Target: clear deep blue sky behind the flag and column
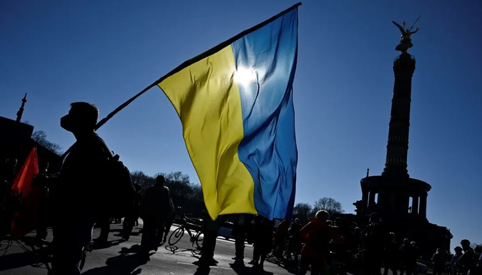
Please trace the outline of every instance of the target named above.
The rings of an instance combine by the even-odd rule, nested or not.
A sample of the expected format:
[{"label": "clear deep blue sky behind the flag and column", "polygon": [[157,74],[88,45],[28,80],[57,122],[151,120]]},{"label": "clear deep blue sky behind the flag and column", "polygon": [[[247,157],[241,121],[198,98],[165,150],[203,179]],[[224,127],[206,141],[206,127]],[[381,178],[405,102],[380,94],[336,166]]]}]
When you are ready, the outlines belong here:
[{"label": "clear deep blue sky behind the flag and column", "polygon": [[[296,1],[1,1],[0,115],[23,115],[68,148],[70,102],[104,117],[185,60]],[[428,219],[482,242],[482,54],[479,1],[321,1],[300,7],[294,84],[297,202],[361,199],[359,180],[384,168],[392,61],[399,30],[417,23],[408,170],[432,185]],[[181,170],[198,182],[180,120],[158,88],[98,133],[131,170]]]}]

